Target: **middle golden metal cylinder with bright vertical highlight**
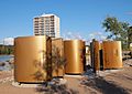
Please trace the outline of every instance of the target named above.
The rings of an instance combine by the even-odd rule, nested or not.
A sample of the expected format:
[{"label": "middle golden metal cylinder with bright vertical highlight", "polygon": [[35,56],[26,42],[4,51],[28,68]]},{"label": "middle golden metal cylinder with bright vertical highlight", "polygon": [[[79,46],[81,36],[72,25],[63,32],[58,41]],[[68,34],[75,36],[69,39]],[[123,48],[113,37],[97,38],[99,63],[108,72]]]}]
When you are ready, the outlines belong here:
[{"label": "middle golden metal cylinder with bright vertical highlight", "polygon": [[85,42],[81,40],[64,41],[64,53],[67,61],[65,73],[82,73],[85,65]]}]

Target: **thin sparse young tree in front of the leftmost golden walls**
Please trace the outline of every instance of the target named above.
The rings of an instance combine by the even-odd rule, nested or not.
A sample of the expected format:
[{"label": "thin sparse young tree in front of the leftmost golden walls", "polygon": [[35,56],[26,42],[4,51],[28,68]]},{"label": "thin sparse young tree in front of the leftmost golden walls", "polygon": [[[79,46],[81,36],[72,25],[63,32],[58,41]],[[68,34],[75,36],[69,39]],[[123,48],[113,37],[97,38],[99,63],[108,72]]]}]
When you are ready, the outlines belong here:
[{"label": "thin sparse young tree in front of the leftmost golden walls", "polygon": [[55,71],[58,76],[59,69],[64,70],[64,65],[66,64],[66,60],[61,55],[59,51],[56,46],[52,48],[52,53],[40,51],[40,53],[43,54],[43,65],[41,61],[35,61],[34,66],[37,67],[37,71],[33,74],[35,80],[50,81],[53,76],[53,71]]}]

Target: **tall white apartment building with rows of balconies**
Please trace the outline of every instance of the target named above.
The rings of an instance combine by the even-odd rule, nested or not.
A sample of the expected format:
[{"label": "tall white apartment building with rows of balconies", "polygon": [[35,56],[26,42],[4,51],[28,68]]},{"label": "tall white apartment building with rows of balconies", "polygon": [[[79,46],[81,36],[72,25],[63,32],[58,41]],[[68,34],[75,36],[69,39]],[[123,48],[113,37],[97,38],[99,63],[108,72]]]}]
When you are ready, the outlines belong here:
[{"label": "tall white apartment building with rows of balconies", "polygon": [[42,14],[33,19],[34,35],[59,38],[59,18],[55,14]]}]

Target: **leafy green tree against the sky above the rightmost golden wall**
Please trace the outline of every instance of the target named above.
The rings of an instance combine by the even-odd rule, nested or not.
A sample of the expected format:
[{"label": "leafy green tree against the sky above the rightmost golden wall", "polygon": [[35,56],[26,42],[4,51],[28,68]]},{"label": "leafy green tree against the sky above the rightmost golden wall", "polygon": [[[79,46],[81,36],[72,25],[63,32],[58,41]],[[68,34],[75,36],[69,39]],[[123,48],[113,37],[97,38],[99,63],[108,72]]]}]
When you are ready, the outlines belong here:
[{"label": "leafy green tree against the sky above the rightmost golden wall", "polygon": [[120,22],[114,17],[107,17],[102,22],[106,32],[110,32],[107,39],[122,41],[123,49],[128,49],[128,30],[129,23]]}]

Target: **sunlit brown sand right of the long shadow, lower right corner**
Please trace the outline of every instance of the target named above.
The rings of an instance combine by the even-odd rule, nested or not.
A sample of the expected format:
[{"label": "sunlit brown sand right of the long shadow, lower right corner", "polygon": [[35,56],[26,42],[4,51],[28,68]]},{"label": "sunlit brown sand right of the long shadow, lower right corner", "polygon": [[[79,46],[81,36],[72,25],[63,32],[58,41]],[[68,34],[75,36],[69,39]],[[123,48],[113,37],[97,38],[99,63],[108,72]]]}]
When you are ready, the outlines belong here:
[{"label": "sunlit brown sand right of the long shadow, lower right corner", "polygon": [[132,94],[132,67],[125,67],[118,73],[109,74],[105,77],[117,86],[124,88],[128,93]]}]

